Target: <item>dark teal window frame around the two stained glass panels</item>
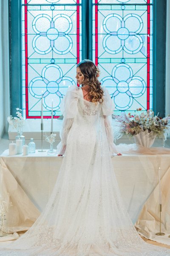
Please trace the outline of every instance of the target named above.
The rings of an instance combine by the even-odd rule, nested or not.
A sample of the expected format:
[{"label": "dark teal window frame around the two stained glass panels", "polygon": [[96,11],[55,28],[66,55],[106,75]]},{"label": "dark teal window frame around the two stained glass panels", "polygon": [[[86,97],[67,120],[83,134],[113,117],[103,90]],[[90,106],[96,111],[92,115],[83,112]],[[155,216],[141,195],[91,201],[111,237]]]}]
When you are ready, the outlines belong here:
[{"label": "dark teal window frame around the two stained glass panels", "polygon": [[[8,0],[10,112],[22,108],[21,0]],[[167,0],[153,0],[153,111],[165,115]],[[90,18],[91,17],[91,18]],[[157,18],[159,17],[159,18]],[[92,0],[82,0],[82,59],[92,60]]]}]

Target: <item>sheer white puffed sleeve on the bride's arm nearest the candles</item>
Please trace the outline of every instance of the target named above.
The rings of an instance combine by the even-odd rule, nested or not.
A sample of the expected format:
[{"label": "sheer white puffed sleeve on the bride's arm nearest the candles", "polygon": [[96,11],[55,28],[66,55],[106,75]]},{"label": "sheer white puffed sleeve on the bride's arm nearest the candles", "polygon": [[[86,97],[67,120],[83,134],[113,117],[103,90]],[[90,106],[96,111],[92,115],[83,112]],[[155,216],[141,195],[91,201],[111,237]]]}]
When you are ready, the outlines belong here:
[{"label": "sheer white puffed sleeve on the bride's arm nearest the candles", "polygon": [[77,116],[77,103],[79,99],[79,88],[71,86],[68,88],[65,97],[60,104],[60,110],[63,115],[62,128],[59,132],[61,142],[57,145],[57,154],[65,154],[68,133],[71,129],[74,117]]}]

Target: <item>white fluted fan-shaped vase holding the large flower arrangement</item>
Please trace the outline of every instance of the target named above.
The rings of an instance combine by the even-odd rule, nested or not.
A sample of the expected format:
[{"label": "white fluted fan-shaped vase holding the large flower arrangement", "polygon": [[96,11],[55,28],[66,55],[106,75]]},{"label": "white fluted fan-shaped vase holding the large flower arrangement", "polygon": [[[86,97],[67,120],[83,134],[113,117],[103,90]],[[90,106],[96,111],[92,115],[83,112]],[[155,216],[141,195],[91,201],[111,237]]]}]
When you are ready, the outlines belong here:
[{"label": "white fluted fan-shaped vase holding the large flower arrangement", "polygon": [[154,135],[152,132],[149,133],[148,130],[146,130],[141,131],[139,134],[136,134],[133,137],[136,144],[145,148],[150,148],[154,143],[156,135]]}]

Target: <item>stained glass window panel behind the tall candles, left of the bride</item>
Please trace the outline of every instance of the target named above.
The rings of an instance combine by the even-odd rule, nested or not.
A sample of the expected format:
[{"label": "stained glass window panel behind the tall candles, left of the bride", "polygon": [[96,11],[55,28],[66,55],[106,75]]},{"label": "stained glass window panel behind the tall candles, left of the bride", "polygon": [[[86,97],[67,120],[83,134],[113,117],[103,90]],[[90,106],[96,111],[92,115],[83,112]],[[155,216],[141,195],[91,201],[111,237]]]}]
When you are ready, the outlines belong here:
[{"label": "stained glass window panel behind the tall candles, left of the bride", "polygon": [[60,101],[76,84],[82,58],[81,0],[22,0],[23,114],[39,118],[61,115]]}]

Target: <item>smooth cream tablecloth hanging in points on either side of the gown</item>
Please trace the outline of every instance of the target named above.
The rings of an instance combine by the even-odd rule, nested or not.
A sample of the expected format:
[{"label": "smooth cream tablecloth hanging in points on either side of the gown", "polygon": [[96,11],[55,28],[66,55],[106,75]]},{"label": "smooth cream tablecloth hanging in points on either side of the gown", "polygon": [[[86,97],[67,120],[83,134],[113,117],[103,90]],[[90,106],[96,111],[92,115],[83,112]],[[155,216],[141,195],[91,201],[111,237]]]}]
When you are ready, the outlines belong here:
[{"label": "smooth cream tablecloth hanging in points on either side of the gown", "polygon": [[[38,151],[28,156],[8,156],[8,150],[1,157],[28,198],[42,211],[51,195],[63,157],[48,156],[47,152]],[[161,177],[170,172],[170,155],[115,156],[112,163],[127,211],[135,223],[142,207],[158,185],[159,167]],[[155,207],[158,199],[157,192]],[[159,216],[158,207],[156,215]]]}]

